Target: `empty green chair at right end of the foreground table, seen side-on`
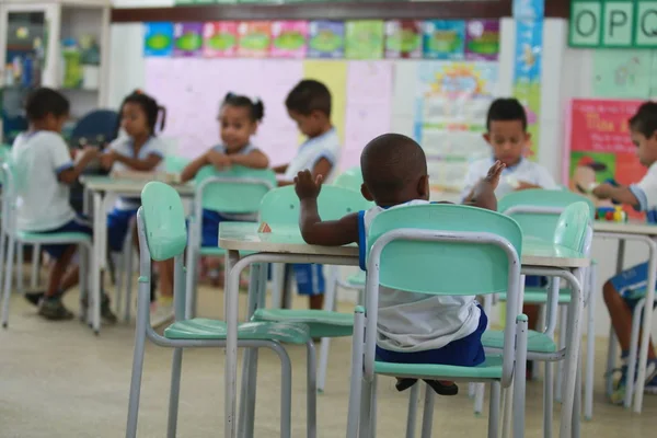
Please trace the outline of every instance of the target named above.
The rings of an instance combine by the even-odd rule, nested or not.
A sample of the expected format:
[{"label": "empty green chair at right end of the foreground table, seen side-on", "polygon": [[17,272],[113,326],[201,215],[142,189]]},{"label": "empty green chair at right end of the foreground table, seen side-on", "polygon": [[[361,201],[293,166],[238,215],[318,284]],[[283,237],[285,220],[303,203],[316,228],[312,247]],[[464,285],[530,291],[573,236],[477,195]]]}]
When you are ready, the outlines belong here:
[{"label": "empty green chair at right end of the foreground table, seen side-on", "polygon": [[[570,204],[560,215],[552,241],[556,245],[575,250],[588,256],[590,253],[592,237],[593,230],[592,222],[590,220],[590,206],[588,203],[578,201]],[[592,293],[589,291],[589,295]],[[588,302],[589,308],[591,304],[591,302]],[[563,333],[564,332],[562,332],[562,337],[565,337]],[[506,339],[504,339],[503,333],[499,331],[487,331],[482,337],[482,342],[486,347],[486,353],[491,351],[495,354],[500,351],[506,346]],[[527,350],[527,356],[529,359],[541,360],[545,362],[545,380],[543,389],[543,436],[551,437],[552,407],[554,403],[552,362],[562,361],[564,359],[565,346],[562,349],[557,349],[552,337],[552,333],[529,331]],[[595,359],[592,355],[587,357],[587,362],[592,362],[593,360]],[[592,364],[589,366],[591,367],[590,369],[592,369]],[[578,368],[578,372],[581,372],[580,367]],[[581,391],[579,388],[577,388],[576,397],[579,396],[581,396]],[[579,404],[576,403],[576,405]],[[576,415],[579,415],[579,413]]]}]

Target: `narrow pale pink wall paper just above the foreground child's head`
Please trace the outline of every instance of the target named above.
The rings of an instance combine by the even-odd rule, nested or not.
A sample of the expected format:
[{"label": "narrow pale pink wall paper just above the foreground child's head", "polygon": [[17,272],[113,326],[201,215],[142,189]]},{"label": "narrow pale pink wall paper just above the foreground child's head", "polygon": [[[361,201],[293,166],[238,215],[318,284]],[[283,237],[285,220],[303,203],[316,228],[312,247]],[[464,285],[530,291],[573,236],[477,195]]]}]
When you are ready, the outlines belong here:
[{"label": "narrow pale pink wall paper just above the foreground child's head", "polygon": [[341,170],[360,165],[362,148],[390,131],[392,67],[388,61],[349,62]]}]

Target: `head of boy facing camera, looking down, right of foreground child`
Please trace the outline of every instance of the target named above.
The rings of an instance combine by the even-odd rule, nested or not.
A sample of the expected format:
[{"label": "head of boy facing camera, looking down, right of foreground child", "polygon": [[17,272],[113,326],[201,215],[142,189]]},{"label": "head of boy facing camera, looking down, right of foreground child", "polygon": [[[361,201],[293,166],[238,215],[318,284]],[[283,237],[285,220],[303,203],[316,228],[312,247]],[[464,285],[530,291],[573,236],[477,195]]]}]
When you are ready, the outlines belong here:
[{"label": "head of boy facing camera, looking down, right of foreground child", "polygon": [[488,108],[484,138],[493,147],[496,160],[507,168],[522,159],[522,152],[530,139],[527,132],[527,114],[517,99],[497,99]]}]

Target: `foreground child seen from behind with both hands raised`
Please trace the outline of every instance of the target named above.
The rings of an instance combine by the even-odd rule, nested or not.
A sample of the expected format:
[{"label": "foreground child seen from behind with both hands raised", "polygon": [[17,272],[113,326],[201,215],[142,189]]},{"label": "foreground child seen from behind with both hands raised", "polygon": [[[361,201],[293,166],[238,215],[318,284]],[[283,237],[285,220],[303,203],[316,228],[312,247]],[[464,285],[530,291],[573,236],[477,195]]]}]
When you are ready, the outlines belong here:
[{"label": "foreground child seen from behind with both hands raised", "polygon": [[[336,221],[324,222],[318,212],[322,177],[312,176],[309,171],[298,174],[295,183],[301,200],[299,224],[306,242],[332,246],[358,242],[362,247],[367,243],[359,237],[367,239],[367,228],[381,211],[429,204],[426,157],[411,138],[399,134],[377,137],[365,147],[360,166],[362,195],[377,206]],[[503,163],[493,163],[466,203],[495,210],[494,191],[503,169]],[[481,336],[486,324],[486,314],[474,296],[438,297],[380,287],[377,356],[379,360],[391,362],[474,367],[485,359]],[[399,379],[396,388],[403,391],[415,381]],[[442,395],[458,392],[453,382],[427,383]]]}]

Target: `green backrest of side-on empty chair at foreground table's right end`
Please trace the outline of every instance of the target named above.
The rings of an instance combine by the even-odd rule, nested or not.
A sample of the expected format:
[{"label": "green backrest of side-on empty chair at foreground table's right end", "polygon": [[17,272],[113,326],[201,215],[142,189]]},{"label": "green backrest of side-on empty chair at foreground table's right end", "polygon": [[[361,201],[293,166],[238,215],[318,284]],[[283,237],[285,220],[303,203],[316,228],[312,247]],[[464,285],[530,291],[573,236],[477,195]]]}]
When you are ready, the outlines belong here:
[{"label": "green backrest of side-on empty chair at foreground table's right end", "polygon": [[575,203],[566,207],[558,217],[554,243],[588,255],[593,234],[589,211],[586,203]]}]

